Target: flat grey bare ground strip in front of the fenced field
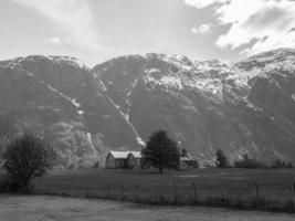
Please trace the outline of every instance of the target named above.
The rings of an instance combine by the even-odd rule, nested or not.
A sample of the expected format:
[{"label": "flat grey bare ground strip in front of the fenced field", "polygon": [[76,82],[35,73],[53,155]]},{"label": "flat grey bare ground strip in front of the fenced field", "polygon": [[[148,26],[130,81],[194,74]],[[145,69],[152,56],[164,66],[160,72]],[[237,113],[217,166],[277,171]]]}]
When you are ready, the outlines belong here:
[{"label": "flat grey bare ground strip in front of the fenced field", "polygon": [[294,221],[294,214],[0,194],[0,221]]}]

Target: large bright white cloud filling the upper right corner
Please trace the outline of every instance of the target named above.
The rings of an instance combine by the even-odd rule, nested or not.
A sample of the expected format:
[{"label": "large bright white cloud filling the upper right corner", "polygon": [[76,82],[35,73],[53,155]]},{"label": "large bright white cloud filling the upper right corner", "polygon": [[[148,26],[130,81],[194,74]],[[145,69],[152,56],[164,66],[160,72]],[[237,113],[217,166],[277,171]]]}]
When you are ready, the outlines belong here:
[{"label": "large bright white cloud filling the upper right corner", "polygon": [[201,9],[215,4],[214,18],[219,25],[230,25],[215,44],[221,49],[249,46],[243,53],[259,53],[277,48],[294,48],[294,0],[185,0]]}]

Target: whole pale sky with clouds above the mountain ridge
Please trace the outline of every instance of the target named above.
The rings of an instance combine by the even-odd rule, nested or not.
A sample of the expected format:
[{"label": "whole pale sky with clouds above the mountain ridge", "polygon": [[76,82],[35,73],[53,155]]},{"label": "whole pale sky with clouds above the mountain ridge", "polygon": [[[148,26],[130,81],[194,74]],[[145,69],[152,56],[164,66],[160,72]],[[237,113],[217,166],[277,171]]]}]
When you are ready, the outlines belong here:
[{"label": "whole pale sky with clouds above the mountain ridge", "polygon": [[236,61],[295,48],[295,0],[0,0],[0,60],[88,66],[150,52]]}]

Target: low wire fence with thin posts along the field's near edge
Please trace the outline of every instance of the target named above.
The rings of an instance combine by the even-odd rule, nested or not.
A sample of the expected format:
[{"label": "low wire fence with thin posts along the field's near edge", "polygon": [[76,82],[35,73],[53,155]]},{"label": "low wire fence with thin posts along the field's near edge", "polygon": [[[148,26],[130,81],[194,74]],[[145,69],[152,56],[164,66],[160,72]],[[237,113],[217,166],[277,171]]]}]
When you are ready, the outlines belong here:
[{"label": "low wire fence with thin posts along the field's near edge", "polygon": [[108,182],[39,182],[35,193],[114,199],[152,204],[198,204],[295,212],[292,185],[122,185]]}]

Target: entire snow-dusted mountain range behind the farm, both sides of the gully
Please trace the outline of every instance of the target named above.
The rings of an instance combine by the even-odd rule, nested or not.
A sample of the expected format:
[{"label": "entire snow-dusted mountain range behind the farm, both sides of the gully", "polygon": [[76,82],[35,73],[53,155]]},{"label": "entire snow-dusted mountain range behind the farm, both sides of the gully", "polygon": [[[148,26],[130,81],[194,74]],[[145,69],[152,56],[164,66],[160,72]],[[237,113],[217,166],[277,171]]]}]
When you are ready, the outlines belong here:
[{"label": "entire snow-dusted mountain range behind the farm, both sides of the gully", "polygon": [[236,63],[186,56],[120,56],[94,69],[74,57],[0,62],[0,106],[22,130],[31,124],[53,143],[59,165],[103,162],[109,149],[140,149],[168,130],[203,164],[217,148],[295,160],[295,50]]}]

